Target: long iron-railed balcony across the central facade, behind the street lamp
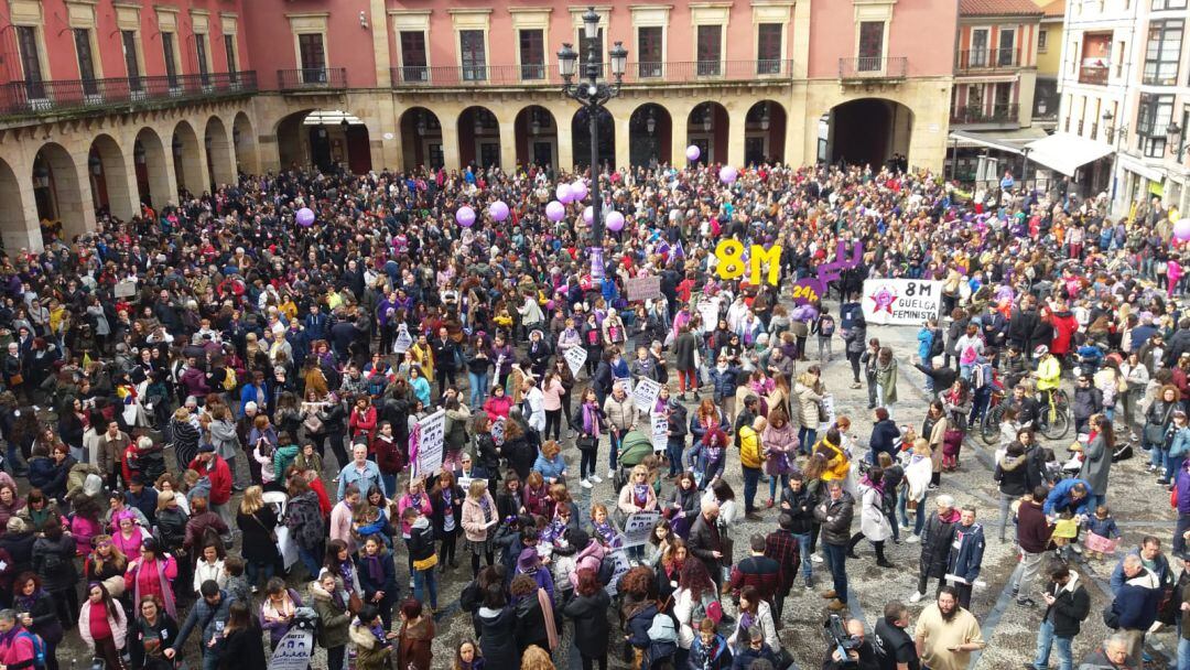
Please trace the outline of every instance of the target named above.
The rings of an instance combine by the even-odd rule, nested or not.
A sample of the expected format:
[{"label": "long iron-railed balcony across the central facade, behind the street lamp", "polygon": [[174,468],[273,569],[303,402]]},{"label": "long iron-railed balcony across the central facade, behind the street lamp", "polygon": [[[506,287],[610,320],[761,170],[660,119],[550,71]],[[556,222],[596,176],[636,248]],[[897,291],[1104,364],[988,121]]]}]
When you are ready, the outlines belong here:
[{"label": "long iron-railed balcony across the central facade, behind the street lamp", "polygon": [[[583,65],[578,65],[583,71]],[[610,73],[610,63],[602,63],[603,76]],[[754,82],[757,80],[789,80],[793,77],[793,61],[688,61],[628,63],[624,83],[709,83]],[[392,69],[393,88],[434,87],[501,87],[501,86],[562,86],[557,64],[520,65],[407,65]]]}]

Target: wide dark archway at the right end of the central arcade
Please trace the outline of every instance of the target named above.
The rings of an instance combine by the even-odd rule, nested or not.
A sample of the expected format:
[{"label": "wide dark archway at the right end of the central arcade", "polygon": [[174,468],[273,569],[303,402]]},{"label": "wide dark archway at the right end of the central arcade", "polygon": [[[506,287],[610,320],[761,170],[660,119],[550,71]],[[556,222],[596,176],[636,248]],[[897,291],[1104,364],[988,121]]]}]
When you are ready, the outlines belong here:
[{"label": "wide dark archway at the right end of the central arcade", "polygon": [[820,159],[828,163],[871,165],[881,169],[894,156],[909,155],[913,111],[879,98],[862,98],[831,108],[826,120],[826,146]]}]

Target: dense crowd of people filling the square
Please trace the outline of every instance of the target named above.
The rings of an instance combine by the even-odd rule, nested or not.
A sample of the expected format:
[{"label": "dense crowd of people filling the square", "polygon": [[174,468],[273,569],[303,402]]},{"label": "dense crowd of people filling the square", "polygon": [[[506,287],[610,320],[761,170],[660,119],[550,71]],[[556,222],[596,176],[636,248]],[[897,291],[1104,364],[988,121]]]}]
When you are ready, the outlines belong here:
[{"label": "dense crowd of people filling the square", "polygon": [[[0,668],[57,670],[77,628],[111,670],[238,669],[265,663],[265,631],[275,649],[312,625],[331,670],[543,670],[571,653],[568,635],[584,670],[609,655],[784,670],[795,640],[781,631],[808,618],[837,633],[823,666],[966,668],[984,646],[971,600],[994,533],[944,475],[970,469],[964,442],[992,411],[995,534],[1020,552],[1019,605],[1038,607],[1046,570],[1034,668],[1051,649],[1071,668],[1090,607],[1077,561],[1115,559],[1108,483],[1132,445],[1154,491],[1173,491],[1172,551],[1188,557],[1176,212],[1154,200],[1110,220],[1102,196],[1010,179],[966,195],[923,171],[764,164],[725,182],[657,165],[603,174],[594,206],[626,224],[594,240],[584,202],[545,214],[556,184],[583,179],[242,176],[10,250]],[[474,226],[455,223],[464,205]],[[303,207],[313,225],[296,223]],[[781,245],[781,281],[720,278],[725,239]],[[795,303],[794,281],[840,244],[859,262]],[[630,300],[643,276],[659,295]],[[915,351],[868,332],[857,299],[876,277],[940,282]],[[909,363],[923,417],[901,407]],[[850,365],[850,389],[826,388],[828,365]],[[630,393],[643,380],[660,384],[651,407]],[[829,401],[865,386],[866,444]],[[1081,436],[1069,462],[1039,439],[1064,387]],[[438,411],[441,467],[415,471]],[[609,502],[588,506],[601,474]],[[626,522],[653,512],[647,541],[625,546]],[[744,537],[745,520],[768,532]],[[883,570],[913,569],[889,543],[920,543],[904,600],[932,602],[915,622],[903,602],[871,635],[850,618],[862,540]],[[474,638],[436,659],[447,580],[465,584]],[[815,584],[821,615],[785,610]],[[1188,586],[1155,537],[1123,556],[1103,668],[1139,668],[1153,621],[1190,610]]]}]

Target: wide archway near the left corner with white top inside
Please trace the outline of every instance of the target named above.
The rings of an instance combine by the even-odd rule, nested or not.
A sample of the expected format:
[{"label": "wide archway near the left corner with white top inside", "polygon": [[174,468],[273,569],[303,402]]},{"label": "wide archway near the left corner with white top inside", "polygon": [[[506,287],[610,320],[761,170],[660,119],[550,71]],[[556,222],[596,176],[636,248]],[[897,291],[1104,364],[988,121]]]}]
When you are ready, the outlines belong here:
[{"label": "wide archway near the left corner with white top inside", "polygon": [[314,165],[324,173],[342,168],[357,175],[371,170],[368,126],[339,109],[303,109],[281,119],[277,151],[283,168]]}]

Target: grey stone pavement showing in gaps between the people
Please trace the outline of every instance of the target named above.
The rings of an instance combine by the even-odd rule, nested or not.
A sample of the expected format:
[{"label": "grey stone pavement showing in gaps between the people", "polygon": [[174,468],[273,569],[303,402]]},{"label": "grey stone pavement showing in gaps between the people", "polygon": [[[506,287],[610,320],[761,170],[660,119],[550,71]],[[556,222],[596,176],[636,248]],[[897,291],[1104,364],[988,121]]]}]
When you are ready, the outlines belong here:
[{"label": "grey stone pavement showing in gaps between the people", "polygon": [[[910,424],[920,430],[921,420],[925,417],[928,405],[923,390],[923,376],[912,367],[913,353],[916,351],[915,327],[881,327],[873,326],[869,330],[870,337],[877,337],[885,345],[892,346],[897,352],[901,363],[901,375],[898,383],[900,400],[894,408],[894,419],[898,424]],[[866,408],[866,388],[850,389],[851,371],[847,362],[841,358],[841,346],[835,343],[835,357],[823,369],[823,381],[827,390],[833,394],[837,415],[847,415],[852,420],[852,443],[858,445],[859,451],[865,451],[868,438],[872,425],[872,413]],[[810,346],[812,350],[816,347]],[[800,363],[798,369],[803,369],[809,363]],[[709,392],[708,392],[709,393]],[[691,403],[691,407],[694,403]],[[1072,434],[1067,438],[1072,439]],[[1066,443],[1069,444],[1069,443]],[[1066,444],[1054,444],[1059,457],[1065,455]],[[600,447],[601,472],[603,463],[607,461],[607,445]],[[726,468],[726,480],[737,491],[738,497],[743,497],[743,477],[739,467],[739,455],[728,450],[728,464]],[[564,450],[564,455],[570,464],[571,471],[577,471],[578,453],[570,446]],[[330,461],[333,461],[331,458]],[[1113,508],[1116,520],[1125,533],[1123,546],[1134,546],[1145,534],[1155,534],[1161,538],[1163,545],[1167,547],[1172,532],[1175,514],[1169,507],[1169,494],[1154,482],[1155,478],[1142,471],[1142,462],[1147,459],[1138,456],[1132,461],[1113,467],[1108,503]],[[1008,594],[1006,588],[1009,575],[1016,564],[1016,555],[1013,551],[1012,537],[1013,527],[1009,524],[1008,543],[1000,543],[997,539],[998,516],[998,491],[991,476],[992,453],[977,440],[969,439],[963,450],[962,468],[953,474],[944,474],[941,493],[953,495],[959,505],[975,505],[978,508],[978,520],[985,526],[988,537],[987,551],[983,559],[982,580],[987,582],[987,588],[977,590],[972,599],[972,610],[983,626],[984,639],[988,647],[982,653],[972,658],[971,666],[976,670],[1004,670],[1009,668],[1021,668],[1023,663],[1032,660],[1036,626],[1040,621],[1042,609],[1027,609],[1017,606]],[[331,475],[333,476],[333,475]],[[666,484],[668,486],[668,484]],[[590,508],[593,501],[602,501],[613,505],[616,491],[612,490],[610,482],[605,477],[603,482],[596,484],[593,490],[574,487],[578,491],[578,506],[581,511]],[[666,489],[668,491],[668,489]],[[1129,495],[1135,491],[1140,495]],[[762,482],[758,495],[762,506],[768,499],[768,486]],[[933,496],[931,496],[932,499]],[[933,509],[932,500],[927,507]],[[746,555],[746,538],[753,533],[768,533],[776,527],[776,509],[763,511],[759,521],[741,520],[733,531],[735,537],[737,558]],[[858,520],[854,530],[858,530]],[[896,565],[895,569],[881,569],[876,566],[876,558],[871,546],[862,541],[857,547],[860,555],[859,561],[848,561],[847,574],[852,591],[851,609],[854,616],[863,619],[868,624],[869,632],[875,626],[876,619],[882,614],[887,602],[900,600],[908,603],[909,595],[916,588],[917,581],[917,556],[919,544],[900,545],[889,544],[887,547],[889,559]],[[461,550],[462,553],[462,550]],[[469,557],[461,556],[461,566],[447,571],[440,577],[439,603],[443,614],[438,621],[438,634],[434,639],[434,665],[449,666],[453,658],[457,645],[464,640],[474,638],[470,616],[462,613],[458,607],[458,595],[470,578]],[[408,581],[405,570],[405,562],[397,561],[397,575],[402,584],[402,595],[408,594]],[[1076,658],[1082,658],[1098,645],[1108,631],[1104,628],[1100,612],[1110,599],[1108,596],[1107,578],[1110,575],[1114,561],[1088,565],[1079,563],[1077,571],[1083,576],[1091,595],[1091,614],[1083,626],[1083,633],[1075,640]],[[301,569],[296,569],[301,572]],[[825,605],[827,601],[819,596],[819,591],[829,588],[829,572],[823,563],[814,564],[814,589],[804,589],[800,584],[795,587],[787,606],[784,630],[781,632],[783,645],[789,647],[802,668],[821,666],[826,644],[822,637],[822,621],[826,618]],[[293,581],[302,595],[306,595],[303,578]],[[931,587],[933,588],[933,587]],[[1040,602],[1040,599],[1035,597]],[[922,607],[928,603],[925,599],[917,605],[909,605],[912,620],[916,621]],[[613,624],[613,638],[618,627]],[[1151,635],[1155,668],[1164,666],[1165,658],[1163,651],[1172,655],[1176,649],[1177,638],[1172,632],[1163,632]],[[566,627],[562,649],[556,652],[555,658],[559,669],[577,670],[581,668],[577,652],[571,653],[571,633]],[[613,639],[613,651],[619,650],[619,641]],[[190,658],[196,659],[196,649],[193,643],[188,645]],[[612,653],[610,656],[616,656]],[[77,632],[70,632],[64,640],[58,657],[61,660],[79,658],[82,660],[86,652],[82,649]],[[622,668],[625,664],[618,659],[610,659],[613,668]],[[315,657],[314,668],[325,668],[325,656],[321,650]],[[193,662],[192,662],[193,665]]]}]

